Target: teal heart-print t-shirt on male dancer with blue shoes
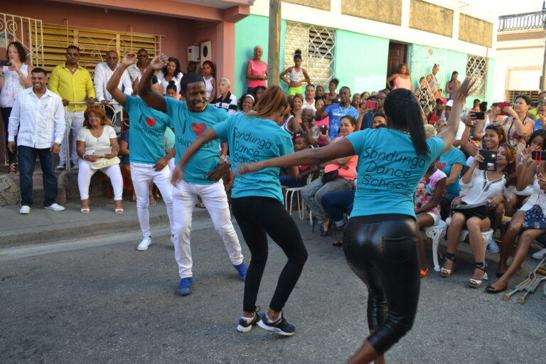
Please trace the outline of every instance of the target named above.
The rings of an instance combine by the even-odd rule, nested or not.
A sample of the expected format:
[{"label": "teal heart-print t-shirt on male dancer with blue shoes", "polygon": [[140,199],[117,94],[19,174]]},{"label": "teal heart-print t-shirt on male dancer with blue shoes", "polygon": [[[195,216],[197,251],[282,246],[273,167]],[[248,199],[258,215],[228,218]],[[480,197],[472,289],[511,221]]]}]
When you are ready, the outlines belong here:
[{"label": "teal heart-print t-shirt on male dancer with blue shoes", "polygon": [[[207,104],[203,112],[191,112],[185,101],[165,97],[167,114],[171,119],[170,127],[174,128],[176,163],[200,134],[203,134],[219,122],[230,117],[225,109]],[[184,181],[198,185],[210,185],[207,174],[218,166],[220,161],[220,141],[215,139],[203,145],[184,168]]]}]

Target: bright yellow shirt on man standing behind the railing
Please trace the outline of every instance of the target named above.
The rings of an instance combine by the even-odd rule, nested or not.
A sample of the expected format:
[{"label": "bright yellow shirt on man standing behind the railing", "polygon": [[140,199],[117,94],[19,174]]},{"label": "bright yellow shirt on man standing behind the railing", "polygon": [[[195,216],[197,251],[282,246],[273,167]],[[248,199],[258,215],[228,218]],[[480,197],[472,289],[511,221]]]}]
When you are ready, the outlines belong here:
[{"label": "bright yellow shirt on man standing behind the railing", "polygon": [[[62,63],[53,68],[48,88],[62,99],[70,102],[85,102],[86,97],[95,98],[95,87],[89,71],[77,66],[75,73],[71,73]],[[82,111],[86,105],[69,105],[69,111]]]}]

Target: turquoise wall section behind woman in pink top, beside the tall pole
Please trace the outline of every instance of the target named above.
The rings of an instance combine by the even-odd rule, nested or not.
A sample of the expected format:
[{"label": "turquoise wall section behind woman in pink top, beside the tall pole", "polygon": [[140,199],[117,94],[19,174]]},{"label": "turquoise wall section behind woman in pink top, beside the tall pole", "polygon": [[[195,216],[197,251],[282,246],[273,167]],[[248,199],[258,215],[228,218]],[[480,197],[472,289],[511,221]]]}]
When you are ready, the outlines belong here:
[{"label": "turquoise wall section behind woman in pink top, beside the tall pole", "polygon": [[[248,80],[245,76],[247,63],[254,56],[255,45],[264,49],[262,60],[267,62],[267,44],[269,43],[269,18],[266,16],[250,15],[235,23],[235,80],[232,80],[232,93],[240,97],[247,92]],[[287,22],[281,21],[281,52],[279,54],[280,70],[284,70],[284,34],[287,31]],[[287,88],[288,92],[288,88]]]}]

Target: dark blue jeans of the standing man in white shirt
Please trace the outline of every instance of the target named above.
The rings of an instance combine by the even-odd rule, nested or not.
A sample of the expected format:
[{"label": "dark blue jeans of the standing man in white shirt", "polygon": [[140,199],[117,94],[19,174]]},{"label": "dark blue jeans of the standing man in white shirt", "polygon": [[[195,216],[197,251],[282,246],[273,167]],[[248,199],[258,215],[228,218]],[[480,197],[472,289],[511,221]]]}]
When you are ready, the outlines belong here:
[{"label": "dark blue jeans of the standing man in white shirt", "polygon": [[55,177],[55,156],[49,148],[36,149],[30,146],[18,146],[19,154],[19,185],[21,188],[21,205],[32,206],[32,175],[36,164],[36,156],[40,156],[42,167],[44,206],[50,206],[57,199],[57,177]]}]

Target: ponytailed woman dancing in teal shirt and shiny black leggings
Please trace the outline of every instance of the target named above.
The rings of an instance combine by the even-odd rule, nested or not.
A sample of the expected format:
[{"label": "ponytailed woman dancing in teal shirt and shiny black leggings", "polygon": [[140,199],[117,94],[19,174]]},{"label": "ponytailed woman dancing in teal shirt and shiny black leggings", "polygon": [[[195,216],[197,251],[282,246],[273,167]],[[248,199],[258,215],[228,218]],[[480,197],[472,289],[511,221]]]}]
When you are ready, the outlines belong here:
[{"label": "ponytailed woman dancing in teal shirt and shiny black leggings", "polygon": [[343,250],[349,267],[368,286],[370,336],[348,363],[385,363],[385,351],[412,328],[420,284],[413,194],[432,161],[451,147],[461,100],[472,85],[465,80],[453,92],[448,126],[437,138],[425,139],[417,98],[410,90],[398,89],[383,106],[388,129],[366,129],[324,148],[239,168],[239,173],[248,173],[358,155],[354,207]]}]

